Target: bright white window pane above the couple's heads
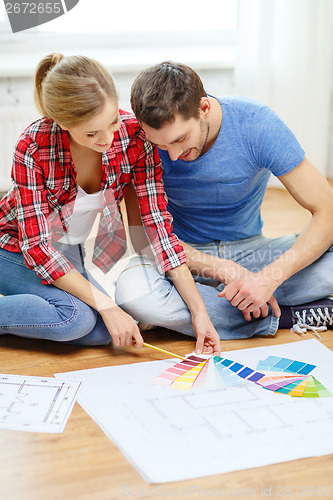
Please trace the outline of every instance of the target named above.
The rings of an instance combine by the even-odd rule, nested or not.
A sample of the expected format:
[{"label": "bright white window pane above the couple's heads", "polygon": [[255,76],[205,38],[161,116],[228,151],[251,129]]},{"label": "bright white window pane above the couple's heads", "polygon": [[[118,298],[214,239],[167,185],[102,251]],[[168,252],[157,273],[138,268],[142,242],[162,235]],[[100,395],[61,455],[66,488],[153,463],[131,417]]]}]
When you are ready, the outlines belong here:
[{"label": "bright white window pane above the couple's heads", "polygon": [[234,30],[237,0],[79,0],[65,16],[40,26],[58,33]]}]

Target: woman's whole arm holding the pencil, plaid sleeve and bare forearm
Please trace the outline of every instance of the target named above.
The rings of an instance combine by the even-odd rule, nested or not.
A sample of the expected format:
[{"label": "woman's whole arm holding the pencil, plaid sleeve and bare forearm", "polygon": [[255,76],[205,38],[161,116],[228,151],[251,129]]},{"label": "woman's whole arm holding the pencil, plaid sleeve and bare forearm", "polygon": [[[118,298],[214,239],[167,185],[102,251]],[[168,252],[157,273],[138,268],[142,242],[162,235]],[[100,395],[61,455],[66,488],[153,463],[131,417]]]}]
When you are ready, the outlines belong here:
[{"label": "woman's whole arm holding the pencil, plaid sleeve and bare forearm", "polygon": [[[43,125],[43,120],[40,123]],[[40,133],[41,141],[45,141],[44,129],[42,127]],[[141,347],[142,337],[134,320],[73,269],[64,255],[49,245],[51,228],[48,191],[45,187],[47,173],[39,161],[38,143],[38,133],[35,141],[22,135],[15,149],[12,169],[20,249],[27,266],[36,272],[46,286],[52,283],[100,312],[115,345],[129,345],[134,338],[136,346]],[[51,180],[54,179],[51,177]],[[54,218],[54,213],[50,215]]]}]

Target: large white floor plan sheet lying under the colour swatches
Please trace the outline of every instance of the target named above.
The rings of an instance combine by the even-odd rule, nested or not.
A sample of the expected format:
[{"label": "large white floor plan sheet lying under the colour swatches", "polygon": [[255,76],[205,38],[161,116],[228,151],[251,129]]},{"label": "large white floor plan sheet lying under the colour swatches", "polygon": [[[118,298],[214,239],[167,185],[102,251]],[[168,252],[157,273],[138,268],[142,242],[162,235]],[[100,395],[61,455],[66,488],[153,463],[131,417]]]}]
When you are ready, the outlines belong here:
[{"label": "large white floor plan sheet lying under the colour swatches", "polygon": [[[209,373],[212,361],[204,362],[193,384],[192,379],[186,382],[191,390],[174,390],[170,383],[152,384],[161,373],[170,372],[175,359],[59,376],[62,380],[82,380],[79,404],[149,483],[333,453],[333,397],[289,397],[248,381],[251,376],[256,378],[260,361],[274,356],[315,366],[308,374],[300,374],[306,377],[303,385],[297,379],[292,382],[296,384],[293,390],[333,392],[333,353],[329,349],[312,339],[224,352],[223,356],[233,360],[237,371],[228,371],[242,380],[242,385],[228,385],[232,379],[218,375],[225,382],[223,386],[203,388],[214,378],[213,372]],[[216,368],[223,373],[227,367],[217,363],[213,368],[216,375]],[[270,368],[266,365],[261,378]],[[275,371],[278,377],[287,375],[283,369],[279,366]],[[282,392],[283,387],[280,389]]]}]

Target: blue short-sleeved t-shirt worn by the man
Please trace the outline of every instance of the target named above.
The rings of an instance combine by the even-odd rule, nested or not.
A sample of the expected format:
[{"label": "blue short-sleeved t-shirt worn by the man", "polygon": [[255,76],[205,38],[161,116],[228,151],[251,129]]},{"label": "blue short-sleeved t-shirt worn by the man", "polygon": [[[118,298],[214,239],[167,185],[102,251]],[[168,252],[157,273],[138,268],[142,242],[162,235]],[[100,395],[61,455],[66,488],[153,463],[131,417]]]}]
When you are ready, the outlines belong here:
[{"label": "blue short-sleeved t-shirt worn by the man", "polygon": [[207,153],[186,162],[159,150],[174,232],[187,242],[260,234],[271,172],[281,176],[304,159],[296,137],[270,108],[246,97],[218,101],[222,125]]}]

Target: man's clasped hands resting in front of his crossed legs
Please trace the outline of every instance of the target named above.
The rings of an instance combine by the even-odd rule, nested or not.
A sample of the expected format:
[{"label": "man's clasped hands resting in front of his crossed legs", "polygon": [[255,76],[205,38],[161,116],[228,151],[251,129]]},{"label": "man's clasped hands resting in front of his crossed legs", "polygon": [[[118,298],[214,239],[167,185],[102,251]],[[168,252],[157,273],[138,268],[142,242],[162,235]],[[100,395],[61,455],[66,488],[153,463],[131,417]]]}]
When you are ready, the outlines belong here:
[{"label": "man's clasped hands resting in front of his crossed legs", "polygon": [[224,287],[219,297],[225,297],[230,304],[242,311],[247,321],[260,316],[268,315],[268,304],[271,306],[275,316],[280,317],[281,311],[277,300],[273,296],[277,285],[259,273],[247,272],[247,276],[237,279]]}]

